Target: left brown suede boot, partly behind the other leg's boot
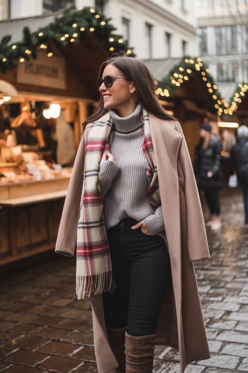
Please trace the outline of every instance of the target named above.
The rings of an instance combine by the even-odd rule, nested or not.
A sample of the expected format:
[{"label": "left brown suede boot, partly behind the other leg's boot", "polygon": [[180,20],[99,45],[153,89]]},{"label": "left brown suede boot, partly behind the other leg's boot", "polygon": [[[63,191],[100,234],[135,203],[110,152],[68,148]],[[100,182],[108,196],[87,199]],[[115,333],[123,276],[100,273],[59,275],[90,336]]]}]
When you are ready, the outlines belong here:
[{"label": "left brown suede boot, partly behind the other leg's boot", "polygon": [[106,325],[109,345],[113,351],[119,367],[113,370],[113,373],[126,372],[126,355],[125,355],[125,331],[126,327],[122,329],[112,329]]}]

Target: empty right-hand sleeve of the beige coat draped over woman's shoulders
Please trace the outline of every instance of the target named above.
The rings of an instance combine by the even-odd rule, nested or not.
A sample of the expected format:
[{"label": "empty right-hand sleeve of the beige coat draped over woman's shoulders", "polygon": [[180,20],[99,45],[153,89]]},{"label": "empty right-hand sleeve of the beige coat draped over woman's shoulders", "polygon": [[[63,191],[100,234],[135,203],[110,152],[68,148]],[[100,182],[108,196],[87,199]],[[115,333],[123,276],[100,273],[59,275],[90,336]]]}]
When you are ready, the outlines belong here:
[{"label": "empty right-hand sleeve of the beige coat draped over woman's shoulders", "polygon": [[[210,256],[206,229],[189,151],[179,123],[176,123],[175,129],[183,137],[178,153],[178,167],[183,175],[178,176],[186,201],[189,258],[191,261],[208,259]],[[178,174],[180,170],[178,169]]]}]

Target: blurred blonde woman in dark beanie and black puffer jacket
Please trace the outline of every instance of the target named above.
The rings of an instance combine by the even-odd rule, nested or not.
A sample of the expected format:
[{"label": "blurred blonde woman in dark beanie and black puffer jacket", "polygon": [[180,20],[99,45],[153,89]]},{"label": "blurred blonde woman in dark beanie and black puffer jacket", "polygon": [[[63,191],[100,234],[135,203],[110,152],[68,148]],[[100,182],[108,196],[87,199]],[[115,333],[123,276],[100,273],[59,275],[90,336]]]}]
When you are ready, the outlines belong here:
[{"label": "blurred blonde woman in dark beanie and black puffer jacket", "polygon": [[206,226],[217,231],[222,227],[218,197],[219,189],[222,188],[220,143],[217,136],[211,134],[211,126],[208,122],[201,125],[200,137],[201,140],[195,151],[193,168],[198,188],[204,190],[211,213],[211,219],[206,223]]}]

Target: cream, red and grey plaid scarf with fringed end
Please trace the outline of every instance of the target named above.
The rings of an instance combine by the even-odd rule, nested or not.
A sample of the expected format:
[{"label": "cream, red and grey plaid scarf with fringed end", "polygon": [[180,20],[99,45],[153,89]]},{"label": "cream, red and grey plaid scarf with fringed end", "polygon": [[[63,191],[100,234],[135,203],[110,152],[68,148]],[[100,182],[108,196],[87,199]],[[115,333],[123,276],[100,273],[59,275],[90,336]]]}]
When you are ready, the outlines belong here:
[{"label": "cream, red and grey plaid scarf with fringed end", "polygon": [[[149,119],[143,108],[141,114],[143,151],[149,163],[147,175],[150,183],[147,192],[149,203],[155,210],[160,204],[157,167],[152,147]],[[85,144],[84,195],[80,211],[77,233],[77,275],[76,292],[78,299],[115,288],[109,245],[104,223],[104,198],[98,180],[99,163],[103,153],[109,151],[109,142],[113,138],[110,114],[92,123],[88,128]]]}]

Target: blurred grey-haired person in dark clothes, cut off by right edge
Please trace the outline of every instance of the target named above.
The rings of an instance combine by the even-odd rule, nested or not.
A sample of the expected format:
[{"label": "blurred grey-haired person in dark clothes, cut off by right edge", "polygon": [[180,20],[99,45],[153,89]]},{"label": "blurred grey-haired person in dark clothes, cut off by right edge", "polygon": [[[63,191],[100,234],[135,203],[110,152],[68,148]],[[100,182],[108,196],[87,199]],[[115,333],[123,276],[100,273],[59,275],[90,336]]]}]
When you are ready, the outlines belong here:
[{"label": "blurred grey-haired person in dark clothes, cut off by right edge", "polygon": [[237,144],[231,150],[230,164],[232,172],[236,173],[239,185],[244,195],[245,224],[248,224],[248,127],[237,129]]}]

